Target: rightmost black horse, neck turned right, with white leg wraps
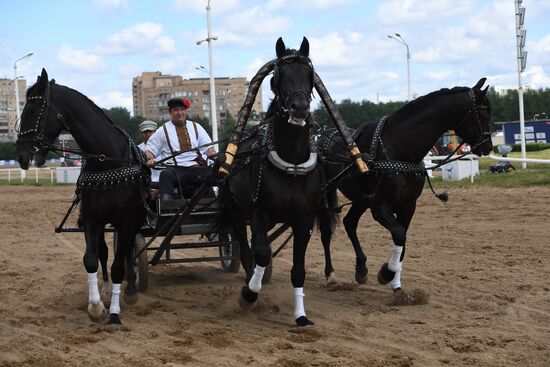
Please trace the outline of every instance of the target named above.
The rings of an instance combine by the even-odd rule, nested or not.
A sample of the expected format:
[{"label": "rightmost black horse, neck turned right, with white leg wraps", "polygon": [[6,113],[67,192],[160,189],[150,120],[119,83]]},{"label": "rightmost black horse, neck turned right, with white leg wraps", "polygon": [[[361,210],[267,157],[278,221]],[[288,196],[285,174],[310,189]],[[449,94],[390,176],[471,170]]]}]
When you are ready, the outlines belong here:
[{"label": "rightmost black horse, neck turned right, with white leg wraps", "polygon": [[[401,289],[401,269],[405,256],[407,229],[422,193],[425,171],[422,159],[437,139],[447,130],[454,130],[477,155],[492,149],[489,119],[491,107],[481,90],[485,78],[473,88],[441,89],[407,103],[386,118],[359,127],[354,138],[361,152],[370,154],[371,170],[364,175],[350,174],[338,184],[338,189],[351,200],[344,217],[344,226],[356,255],[355,279],[367,280],[367,257],[357,237],[357,225],[370,208],[374,220],[388,229],[394,242],[392,255],[378,273],[381,284],[390,283]],[[325,157],[327,178],[335,177],[350,162],[345,157],[345,144],[333,134],[321,139],[320,154]],[[335,191],[328,195],[335,207]],[[321,240],[325,250],[325,276],[334,282],[330,257],[332,227],[327,213],[320,216]]]}]

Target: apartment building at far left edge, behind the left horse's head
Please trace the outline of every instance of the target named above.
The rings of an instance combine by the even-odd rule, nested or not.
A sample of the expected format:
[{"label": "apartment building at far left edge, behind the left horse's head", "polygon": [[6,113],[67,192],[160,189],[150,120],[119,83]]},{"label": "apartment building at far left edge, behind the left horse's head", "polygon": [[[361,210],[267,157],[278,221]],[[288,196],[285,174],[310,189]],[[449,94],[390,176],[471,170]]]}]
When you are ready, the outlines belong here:
[{"label": "apartment building at far left edge, behind the left horse's head", "polygon": [[[26,101],[27,81],[18,79],[17,82],[19,83],[19,106],[20,110],[23,111]],[[17,133],[14,130],[16,116],[13,79],[0,79],[0,141],[15,141],[17,139]]]}]

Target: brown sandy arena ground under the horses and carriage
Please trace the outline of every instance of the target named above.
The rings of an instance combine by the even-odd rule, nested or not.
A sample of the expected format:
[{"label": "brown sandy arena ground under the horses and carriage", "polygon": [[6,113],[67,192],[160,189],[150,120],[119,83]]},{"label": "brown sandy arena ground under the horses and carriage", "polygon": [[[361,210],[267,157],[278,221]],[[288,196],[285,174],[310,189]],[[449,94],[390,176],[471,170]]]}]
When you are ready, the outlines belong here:
[{"label": "brown sandy arena ground under the horses and carriage", "polygon": [[[333,258],[345,285],[329,290],[316,233],[305,306],[313,328],[294,326],[292,251],[241,311],[243,272],[218,263],[150,268],[149,290],[122,303],[121,327],[88,319],[82,234],[54,234],[72,187],[1,186],[1,366],[549,366],[550,187],[427,191],[408,234],[405,290],[427,304],[390,306],[376,272],[389,233],[363,217],[369,281],[354,284],[343,227]],[[111,244],[111,239],[108,239]],[[206,250],[198,250],[204,252]]]}]

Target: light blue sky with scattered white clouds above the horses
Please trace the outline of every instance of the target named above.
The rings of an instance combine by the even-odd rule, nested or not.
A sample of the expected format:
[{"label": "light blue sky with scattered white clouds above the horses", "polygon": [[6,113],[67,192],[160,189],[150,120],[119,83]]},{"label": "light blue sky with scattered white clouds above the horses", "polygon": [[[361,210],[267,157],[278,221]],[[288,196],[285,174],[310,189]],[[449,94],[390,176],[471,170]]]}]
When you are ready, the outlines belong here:
[{"label": "light blue sky with scattered white clouds above the horses", "polygon": [[[99,106],[132,111],[132,78],[161,71],[206,77],[207,0],[0,0],[0,77],[13,63],[30,86],[41,68]],[[517,88],[513,0],[211,0],[214,74],[251,78],[275,57],[275,41],[311,45],[316,71],[336,101],[407,98],[453,86]],[[550,88],[550,0],[524,0],[523,83]],[[264,105],[271,93],[263,85]],[[317,102],[319,99],[317,98]]]}]

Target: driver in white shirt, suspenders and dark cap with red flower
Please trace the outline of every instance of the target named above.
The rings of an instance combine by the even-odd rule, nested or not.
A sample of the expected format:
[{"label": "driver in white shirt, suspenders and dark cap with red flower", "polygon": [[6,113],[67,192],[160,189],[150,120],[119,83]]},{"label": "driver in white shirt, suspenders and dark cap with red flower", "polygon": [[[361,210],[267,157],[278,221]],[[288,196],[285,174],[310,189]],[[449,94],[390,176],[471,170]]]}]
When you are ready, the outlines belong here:
[{"label": "driver in white shirt, suspenders and dark cap with red flower", "polygon": [[[171,121],[165,123],[149,138],[145,146],[147,164],[171,157],[164,163],[173,167],[163,169],[160,173],[161,199],[174,198],[178,187],[184,196],[188,187],[200,185],[201,178],[208,175],[207,158],[214,158],[216,150],[212,139],[202,126],[187,120],[187,111],[191,102],[186,98],[172,98],[168,101],[168,112]],[[202,147],[202,148],[199,148]],[[184,152],[174,156],[179,152]]]}]

